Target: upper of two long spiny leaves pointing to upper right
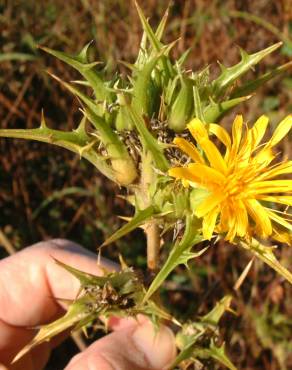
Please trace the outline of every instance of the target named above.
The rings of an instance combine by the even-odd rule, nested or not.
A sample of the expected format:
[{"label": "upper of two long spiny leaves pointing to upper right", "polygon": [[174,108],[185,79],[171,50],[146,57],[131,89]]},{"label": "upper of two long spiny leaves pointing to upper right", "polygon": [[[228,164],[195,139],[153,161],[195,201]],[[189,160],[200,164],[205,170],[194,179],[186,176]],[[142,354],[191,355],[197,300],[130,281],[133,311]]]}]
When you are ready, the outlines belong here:
[{"label": "upper of two long spiny leaves pointing to upper right", "polygon": [[259,63],[264,57],[278,49],[282,42],[278,42],[264,50],[258,51],[254,54],[247,54],[240,49],[241,61],[229,68],[221,66],[222,73],[213,81],[213,94],[215,97],[222,95],[225,90],[241,75],[246,73],[250,68]]}]

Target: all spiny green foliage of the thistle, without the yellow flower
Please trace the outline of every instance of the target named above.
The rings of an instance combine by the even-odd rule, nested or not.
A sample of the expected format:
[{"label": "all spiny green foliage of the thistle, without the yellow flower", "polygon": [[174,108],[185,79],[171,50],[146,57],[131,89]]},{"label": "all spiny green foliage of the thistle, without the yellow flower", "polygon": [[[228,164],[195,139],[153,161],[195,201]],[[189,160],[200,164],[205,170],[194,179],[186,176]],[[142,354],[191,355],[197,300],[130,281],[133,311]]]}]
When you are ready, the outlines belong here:
[{"label": "all spiny green foliage of the thistle, without the yellow flower", "polygon": [[[250,55],[240,50],[241,61],[230,67],[220,65],[221,73],[212,80],[209,67],[197,72],[186,69],[188,51],[176,61],[171,58],[176,42],[166,45],[162,41],[168,11],[154,31],[137,3],[136,8],[144,33],[135,63],[123,62],[130,70],[126,77],[115,74],[108,79],[100,62],[89,60],[90,43],[73,56],[41,47],[84,78],[78,81],[80,87],[77,88],[53,75],[81,103],[83,118],[76,130],[53,130],[42,119],[39,128],[1,129],[0,136],[66,148],[87,159],[110,180],[127,188],[126,199],[135,207],[134,216],[102,246],[138,227],[147,234],[153,221],[157,226],[154,231],[158,234],[152,238],[158,240],[156,249],[160,248],[160,232],[166,233],[169,229],[175,229],[173,245],[147,291],[132,269],[96,277],[58,262],[79,279],[80,295],[70,302],[67,314],[41,328],[19,356],[65,329],[86,326],[100,315],[135,316],[143,313],[154,322],[162,318],[176,322],[150,298],[177,266],[187,267],[191,259],[201,256],[209,246],[197,251],[192,249],[203,241],[202,222],[194,213],[206,192],[178,187],[167,176],[169,168],[178,161],[171,151],[172,139],[177,133],[185,135],[186,125],[194,117],[206,124],[218,122],[232,108],[250,99],[265,82],[291,67],[291,62],[286,63],[240,85],[242,76],[281,46],[277,43]],[[23,54],[10,55],[10,59],[15,58],[30,59]],[[150,239],[149,235],[147,237]],[[257,241],[241,243],[241,246],[292,283],[291,273],[277,261],[270,247]],[[183,325],[177,335],[181,352],[172,367],[185,360],[195,362],[213,358],[229,369],[235,369],[225,354],[224,345],[216,342],[218,321],[230,302],[231,298],[225,297],[198,322]]]}]

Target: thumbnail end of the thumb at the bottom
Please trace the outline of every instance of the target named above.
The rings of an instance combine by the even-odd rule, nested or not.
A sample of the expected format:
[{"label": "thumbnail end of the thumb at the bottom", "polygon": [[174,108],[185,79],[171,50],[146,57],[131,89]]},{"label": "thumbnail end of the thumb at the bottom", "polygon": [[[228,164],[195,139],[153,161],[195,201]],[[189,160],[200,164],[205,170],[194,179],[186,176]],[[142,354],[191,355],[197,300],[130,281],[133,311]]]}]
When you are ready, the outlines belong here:
[{"label": "thumbnail end of the thumb at the bottom", "polygon": [[140,325],[133,333],[133,341],[153,369],[167,369],[167,365],[175,358],[174,335],[164,325],[158,331],[155,331],[151,322]]}]

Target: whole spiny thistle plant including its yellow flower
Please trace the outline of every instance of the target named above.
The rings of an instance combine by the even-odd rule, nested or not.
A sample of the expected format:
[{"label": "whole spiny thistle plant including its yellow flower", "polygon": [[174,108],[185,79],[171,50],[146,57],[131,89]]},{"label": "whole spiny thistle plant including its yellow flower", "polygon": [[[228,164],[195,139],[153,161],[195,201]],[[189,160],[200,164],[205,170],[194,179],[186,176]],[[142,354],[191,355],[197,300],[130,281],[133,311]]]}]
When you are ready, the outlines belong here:
[{"label": "whole spiny thistle plant including its yellow flower", "polygon": [[[266,116],[252,127],[241,115],[236,116],[231,136],[219,123],[262,84],[290,68],[291,62],[239,84],[244,74],[281,43],[254,54],[240,50],[240,62],[231,67],[220,65],[221,72],[212,80],[209,67],[197,72],[184,67],[188,51],[178,60],[171,58],[176,42],[162,42],[167,12],[154,31],[138,4],[136,7],[143,36],[135,63],[123,62],[130,71],[126,78],[116,74],[106,80],[98,62],[88,59],[90,43],[75,56],[41,47],[83,77],[68,83],[52,75],[80,102],[82,120],[75,130],[51,129],[43,115],[39,128],[2,129],[0,136],[61,146],[126,188],[125,198],[135,210],[133,217],[104,241],[99,253],[141,227],[154,279],[146,286],[134,267],[124,263],[120,272],[104,277],[62,265],[80,280],[80,294],[67,314],[41,328],[19,355],[67,328],[86,328],[100,315],[142,313],[154,324],[168,320],[175,326],[180,353],[172,368],[181,361],[211,357],[235,369],[224,345],[217,341],[218,322],[230,309],[231,296],[223,297],[196,322],[181,323],[161,307],[154,293],[178,265],[187,266],[206,253],[214,238],[248,250],[292,283],[292,274],[266,244],[270,239],[291,244],[288,207],[292,205],[292,180],[278,176],[291,174],[292,164],[286,159],[276,162],[273,149],[288,135],[292,117],[284,118],[262,144]],[[90,94],[86,94],[88,90]],[[214,139],[224,146],[223,152]],[[165,235],[171,235],[173,243],[168,257],[161,261]]]}]

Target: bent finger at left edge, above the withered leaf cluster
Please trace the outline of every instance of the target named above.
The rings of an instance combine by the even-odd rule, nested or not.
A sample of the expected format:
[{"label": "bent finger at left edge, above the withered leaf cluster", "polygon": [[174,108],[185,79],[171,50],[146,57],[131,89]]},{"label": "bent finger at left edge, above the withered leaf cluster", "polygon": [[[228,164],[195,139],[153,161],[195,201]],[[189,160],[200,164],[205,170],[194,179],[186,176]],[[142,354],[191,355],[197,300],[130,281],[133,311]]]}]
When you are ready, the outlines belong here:
[{"label": "bent finger at left edge, above the withered leaf cluster", "polygon": [[[5,365],[35,335],[27,327],[57,318],[63,311],[58,298],[74,299],[79,290],[78,280],[53,258],[92,274],[103,273],[93,253],[60,239],[0,261],[0,362]],[[107,260],[102,263],[108,269],[115,267]]]}]

